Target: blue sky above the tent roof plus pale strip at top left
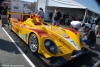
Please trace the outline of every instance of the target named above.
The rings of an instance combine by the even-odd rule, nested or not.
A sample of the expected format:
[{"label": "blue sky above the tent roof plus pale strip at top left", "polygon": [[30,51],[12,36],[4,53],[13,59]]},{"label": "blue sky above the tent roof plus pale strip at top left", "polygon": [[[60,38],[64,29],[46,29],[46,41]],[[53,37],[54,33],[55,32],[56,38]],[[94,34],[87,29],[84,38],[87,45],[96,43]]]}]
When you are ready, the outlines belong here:
[{"label": "blue sky above the tent roof plus pale strip at top left", "polygon": [[[28,1],[28,2],[36,2],[37,0],[24,0],[24,1]],[[97,13],[100,14],[100,7],[98,6],[96,0],[74,0],[80,4],[82,4],[83,6],[89,8],[92,11],[95,11]]]}]

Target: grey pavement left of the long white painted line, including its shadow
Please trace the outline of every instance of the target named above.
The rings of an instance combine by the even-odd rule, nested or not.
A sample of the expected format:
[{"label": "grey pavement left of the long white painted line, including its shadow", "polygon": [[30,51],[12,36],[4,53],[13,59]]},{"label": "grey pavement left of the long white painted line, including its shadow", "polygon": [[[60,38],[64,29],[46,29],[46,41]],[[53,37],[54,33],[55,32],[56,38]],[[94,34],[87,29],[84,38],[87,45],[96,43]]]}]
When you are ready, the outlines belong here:
[{"label": "grey pavement left of the long white painted line, including its shadow", "polygon": [[0,67],[31,67],[23,55],[0,26]]}]

